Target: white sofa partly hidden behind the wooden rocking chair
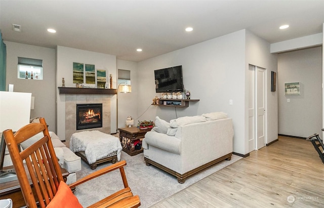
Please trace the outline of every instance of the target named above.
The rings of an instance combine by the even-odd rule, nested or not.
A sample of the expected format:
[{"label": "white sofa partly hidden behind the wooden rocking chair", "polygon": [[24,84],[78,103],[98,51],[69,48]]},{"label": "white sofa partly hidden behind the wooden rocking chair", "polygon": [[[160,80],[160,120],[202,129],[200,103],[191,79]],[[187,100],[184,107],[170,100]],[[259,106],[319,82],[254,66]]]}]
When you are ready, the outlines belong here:
[{"label": "white sofa partly hidden behind the wooden rocking chair", "polygon": [[[67,184],[73,183],[76,181],[76,171],[81,170],[81,159],[79,156],[75,155],[69,148],[65,146],[60,140],[60,138],[54,133],[49,132],[51,136],[51,140],[53,143],[53,147],[55,150],[55,154],[59,159],[59,163],[62,168],[66,169],[69,172],[69,176],[67,177]],[[21,147],[23,149],[29,147],[32,143],[38,141],[43,137],[43,133],[39,133],[34,137],[26,140],[25,142],[21,143]],[[5,159],[4,159],[4,167],[12,165],[12,161],[9,155],[9,151],[6,150],[5,152]]]}]

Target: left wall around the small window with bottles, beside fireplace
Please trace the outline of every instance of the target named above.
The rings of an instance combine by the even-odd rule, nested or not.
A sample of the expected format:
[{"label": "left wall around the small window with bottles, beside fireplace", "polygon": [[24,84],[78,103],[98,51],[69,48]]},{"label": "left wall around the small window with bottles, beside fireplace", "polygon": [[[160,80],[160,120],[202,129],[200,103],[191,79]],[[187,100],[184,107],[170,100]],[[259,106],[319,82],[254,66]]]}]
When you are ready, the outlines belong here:
[{"label": "left wall around the small window with bottles, beside fireplace", "polygon": [[[30,117],[44,117],[49,130],[56,132],[55,116],[55,49],[18,44],[5,41],[7,46],[7,75],[8,85],[14,85],[14,92],[32,93],[35,97],[34,109]],[[18,57],[43,60],[43,80],[18,79]]]}]

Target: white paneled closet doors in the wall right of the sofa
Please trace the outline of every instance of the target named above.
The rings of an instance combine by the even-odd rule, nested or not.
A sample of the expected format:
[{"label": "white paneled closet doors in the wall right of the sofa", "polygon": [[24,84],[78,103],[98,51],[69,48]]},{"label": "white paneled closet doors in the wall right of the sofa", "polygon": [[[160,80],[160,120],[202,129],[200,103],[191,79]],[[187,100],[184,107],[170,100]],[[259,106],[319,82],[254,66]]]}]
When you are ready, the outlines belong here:
[{"label": "white paneled closet doors in the wall right of the sofa", "polygon": [[249,65],[249,152],[265,146],[265,69]]}]

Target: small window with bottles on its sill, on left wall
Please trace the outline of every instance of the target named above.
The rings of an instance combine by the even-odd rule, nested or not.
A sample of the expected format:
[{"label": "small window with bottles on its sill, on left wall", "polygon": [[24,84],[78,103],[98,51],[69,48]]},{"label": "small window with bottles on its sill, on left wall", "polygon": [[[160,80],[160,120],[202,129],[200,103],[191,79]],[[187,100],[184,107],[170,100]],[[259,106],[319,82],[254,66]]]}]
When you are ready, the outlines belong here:
[{"label": "small window with bottles on its sill, on left wall", "polygon": [[43,60],[18,57],[18,78],[43,79]]}]

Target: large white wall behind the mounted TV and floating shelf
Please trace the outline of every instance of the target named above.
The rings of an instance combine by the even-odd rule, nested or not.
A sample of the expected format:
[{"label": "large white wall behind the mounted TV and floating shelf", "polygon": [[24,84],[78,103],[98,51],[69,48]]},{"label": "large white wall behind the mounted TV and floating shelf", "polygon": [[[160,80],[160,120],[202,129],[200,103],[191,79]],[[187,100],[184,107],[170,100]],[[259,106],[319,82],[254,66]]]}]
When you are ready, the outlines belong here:
[{"label": "large white wall behind the mounted TV and floating shelf", "polygon": [[[182,65],[185,89],[191,99],[187,108],[151,106],[141,120],[155,115],[170,120],[186,115],[223,111],[233,118],[234,152],[245,154],[245,30],[233,32],[181,50],[139,62],[138,114],[144,112],[155,95],[154,70]],[[159,96],[159,95],[158,95]],[[229,99],[233,105],[229,105]]]}]

